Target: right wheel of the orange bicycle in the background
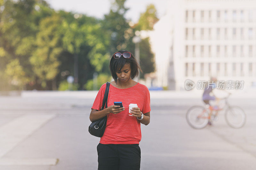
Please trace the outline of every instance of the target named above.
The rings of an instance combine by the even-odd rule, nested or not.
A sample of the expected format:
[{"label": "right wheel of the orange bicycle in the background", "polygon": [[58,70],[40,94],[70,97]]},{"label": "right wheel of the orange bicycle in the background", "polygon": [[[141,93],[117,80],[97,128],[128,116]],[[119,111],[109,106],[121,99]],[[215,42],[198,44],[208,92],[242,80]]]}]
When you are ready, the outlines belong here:
[{"label": "right wheel of the orange bicycle in the background", "polygon": [[245,124],[246,116],[242,108],[231,106],[225,112],[225,119],[230,127],[241,128]]}]

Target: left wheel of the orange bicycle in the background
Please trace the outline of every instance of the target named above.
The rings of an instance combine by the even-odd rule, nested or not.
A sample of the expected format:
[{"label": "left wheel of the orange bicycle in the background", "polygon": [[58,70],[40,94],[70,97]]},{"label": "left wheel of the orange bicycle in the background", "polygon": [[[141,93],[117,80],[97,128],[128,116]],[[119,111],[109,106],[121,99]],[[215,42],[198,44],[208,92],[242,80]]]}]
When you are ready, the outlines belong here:
[{"label": "left wheel of the orange bicycle in the background", "polygon": [[188,124],[195,129],[204,128],[209,122],[208,111],[202,106],[190,107],[186,114]]}]

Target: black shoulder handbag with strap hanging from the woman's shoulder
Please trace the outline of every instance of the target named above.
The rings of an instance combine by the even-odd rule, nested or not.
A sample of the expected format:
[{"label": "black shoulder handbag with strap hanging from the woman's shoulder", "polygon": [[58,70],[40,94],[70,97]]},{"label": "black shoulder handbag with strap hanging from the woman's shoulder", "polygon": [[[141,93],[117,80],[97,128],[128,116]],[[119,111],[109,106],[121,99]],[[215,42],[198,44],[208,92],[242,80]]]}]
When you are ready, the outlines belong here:
[{"label": "black shoulder handbag with strap hanging from the woman's shoulder", "polygon": [[[110,82],[106,83],[106,90],[104,93],[104,98],[103,98],[103,102],[102,102],[102,107],[100,110],[104,109],[108,107],[108,91],[109,91],[109,86],[110,86]],[[102,137],[106,128],[106,124],[107,124],[107,116],[92,122],[89,126],[89,132],[91,135],[96,136],[96,137]]]}]

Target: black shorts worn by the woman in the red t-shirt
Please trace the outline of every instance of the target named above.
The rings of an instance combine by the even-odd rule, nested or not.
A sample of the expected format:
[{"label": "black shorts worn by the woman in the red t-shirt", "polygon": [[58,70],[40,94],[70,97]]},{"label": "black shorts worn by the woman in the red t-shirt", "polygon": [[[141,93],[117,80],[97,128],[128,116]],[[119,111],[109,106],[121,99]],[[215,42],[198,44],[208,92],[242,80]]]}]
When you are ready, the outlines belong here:
[{"label": "black shorts worn by the woman in the red t-shirt", "polygon": [[98,170],[139,170],[139,144],[98,144]]}]

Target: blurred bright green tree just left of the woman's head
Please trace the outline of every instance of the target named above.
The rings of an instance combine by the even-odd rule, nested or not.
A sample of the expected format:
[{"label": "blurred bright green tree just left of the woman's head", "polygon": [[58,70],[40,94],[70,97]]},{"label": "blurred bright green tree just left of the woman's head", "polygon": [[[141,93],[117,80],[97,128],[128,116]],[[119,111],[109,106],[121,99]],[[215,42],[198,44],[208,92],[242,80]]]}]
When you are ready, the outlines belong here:
[{"label": "blurred bright green tree just left of the woman's head", "polygon": [[63,45],[74,57],[74,68],[77,70],[72,69],[72,72],[75,77],[79,77],[76,80],[79,89],[83,89],[87,80],[92,78],[94,70],[106,72],[103,66],[108,65],[109,61],[109,40],[100,21],[81,14],[74,14],[74,17],[62,23]]}]

